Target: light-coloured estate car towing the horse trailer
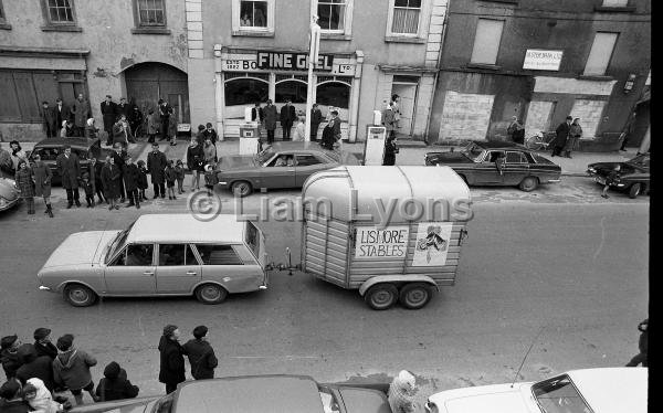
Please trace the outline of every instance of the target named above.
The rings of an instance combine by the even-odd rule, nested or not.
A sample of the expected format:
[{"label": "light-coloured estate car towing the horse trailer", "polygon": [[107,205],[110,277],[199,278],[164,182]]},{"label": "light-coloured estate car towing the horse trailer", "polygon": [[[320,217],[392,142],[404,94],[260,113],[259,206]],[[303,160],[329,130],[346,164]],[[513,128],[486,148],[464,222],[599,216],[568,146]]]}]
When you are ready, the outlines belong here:
[{"label": "light-coloured estate car towing the horse trailer", "polygon": [[264,236],[251,222],[147,214],[124,231],[70,235],[38,278],[40,289],[85,307],[112,296],[194,295],[218,304],[228,294],[266,289],[269,273]]}]

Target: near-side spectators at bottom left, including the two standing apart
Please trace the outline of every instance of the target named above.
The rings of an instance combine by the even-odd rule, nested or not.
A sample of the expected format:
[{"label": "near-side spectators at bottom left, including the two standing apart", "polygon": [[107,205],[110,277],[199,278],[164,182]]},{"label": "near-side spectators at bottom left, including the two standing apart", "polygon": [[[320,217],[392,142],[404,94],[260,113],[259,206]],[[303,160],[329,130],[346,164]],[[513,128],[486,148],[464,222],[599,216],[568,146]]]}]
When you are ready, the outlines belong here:
[{"label": "near-side spectators at bottom left, including the two standing apart", "polygon": [[[212,379],[219,361],[207,341],[208,328],[198,326],[193,338],[180,345],[177,326],[164,328],[158,350],[160,353],[159,382],[166,393],[175,391],[187,380],[185,357],[189,359],[194,380]],[[104,368],[104,377],[94,384],[91,368],[97,359],[74,346],[74,336],[65,333],[55,343],[51,329],[34,330],[34,342],[22,343],[17,335],[0,340],[0,362],[7,381],[0,386],[0,412],[23,413],[39,411],[60,413],[72,407],[65,392],[70,392],[76,405],[83,404],[83,391],[94,402],[131,399],[138,395],[138,386],[131,384],[127,372],[116,361]]]}]

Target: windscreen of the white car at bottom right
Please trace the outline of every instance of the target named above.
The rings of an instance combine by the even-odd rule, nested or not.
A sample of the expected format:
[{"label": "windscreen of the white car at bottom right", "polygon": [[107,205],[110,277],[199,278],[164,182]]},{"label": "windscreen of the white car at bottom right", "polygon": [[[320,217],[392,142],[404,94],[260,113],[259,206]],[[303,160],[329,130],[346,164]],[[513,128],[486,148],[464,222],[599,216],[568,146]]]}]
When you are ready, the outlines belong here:
[{"label": "windscreen of the white car at bottom right", "polygon": [[566,374],[534,384],[532,392],[543,413],[593,413]]}]

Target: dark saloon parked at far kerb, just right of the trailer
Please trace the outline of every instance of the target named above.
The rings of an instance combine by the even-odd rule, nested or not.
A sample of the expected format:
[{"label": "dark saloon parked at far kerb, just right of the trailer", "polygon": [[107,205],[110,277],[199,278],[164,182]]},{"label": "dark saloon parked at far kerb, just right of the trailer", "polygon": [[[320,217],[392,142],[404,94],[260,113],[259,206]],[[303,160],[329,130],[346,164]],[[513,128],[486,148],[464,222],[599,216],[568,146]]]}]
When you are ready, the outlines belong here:
[{"label": "dark saloon parked at far kerb, just right of the trailer", "polygon": [[470,186],[517,186],[534,191],[539,183],[559,182],[561,168],[522,145],[472,142],[461,150],[428,152],[428,166],[448,166]]}]

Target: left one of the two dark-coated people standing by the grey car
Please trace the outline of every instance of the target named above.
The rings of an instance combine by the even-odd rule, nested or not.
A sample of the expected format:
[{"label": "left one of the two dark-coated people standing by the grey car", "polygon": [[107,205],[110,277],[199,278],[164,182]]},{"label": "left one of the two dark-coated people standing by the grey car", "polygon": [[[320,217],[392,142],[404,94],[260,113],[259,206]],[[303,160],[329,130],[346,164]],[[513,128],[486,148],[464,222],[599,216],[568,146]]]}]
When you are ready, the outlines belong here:
[{"label": "left one of the two dark-coated people standing by the grey car", "polygon": [[172,393],[185,377],[185,349],[179,343],[177,326],[164,327],[164,335],[159,340],[159,381],[166,384],[166,394]]}]

